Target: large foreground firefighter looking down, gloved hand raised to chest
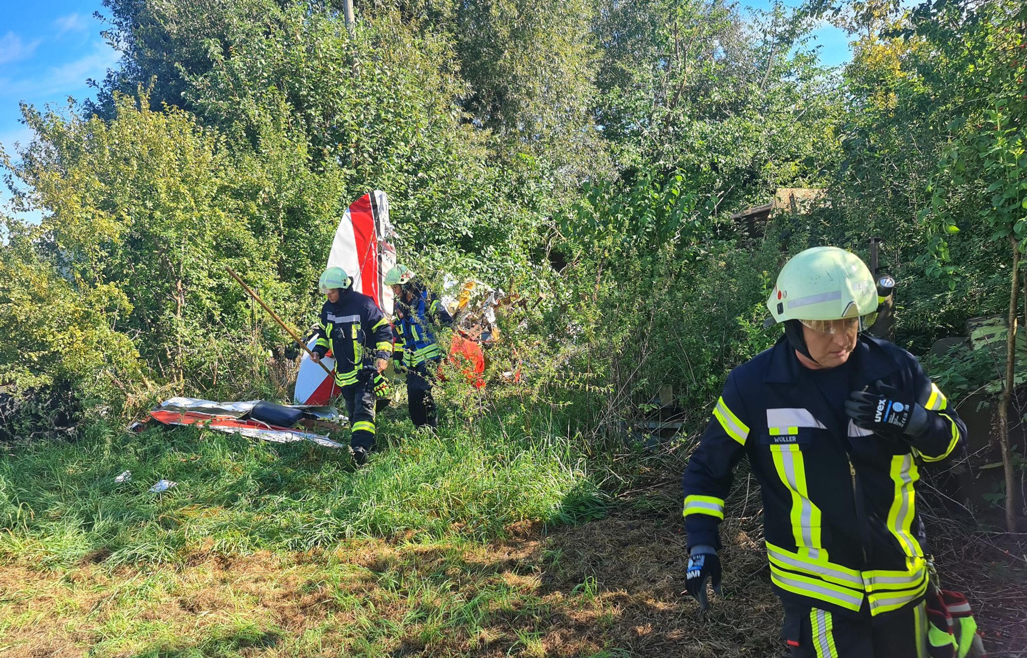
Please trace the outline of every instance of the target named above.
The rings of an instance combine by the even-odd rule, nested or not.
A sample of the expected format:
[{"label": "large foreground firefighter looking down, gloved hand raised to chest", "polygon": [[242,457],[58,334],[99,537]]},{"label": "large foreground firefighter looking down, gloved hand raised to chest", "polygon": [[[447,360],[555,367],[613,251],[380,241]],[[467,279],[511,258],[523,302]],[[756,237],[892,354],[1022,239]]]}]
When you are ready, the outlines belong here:
[{"label": "large foreground firefighter looking down, gloved hand raised to chest", "polygon": [[732,470],[749,458],[794,657],[926,655],[919,468],[960,451],[965,426],[912,354],[862,333],[879,304],[848,251],[789,261],[767,301],[785,336],[728,376],[684,474],[686,583],[706,608]]}]

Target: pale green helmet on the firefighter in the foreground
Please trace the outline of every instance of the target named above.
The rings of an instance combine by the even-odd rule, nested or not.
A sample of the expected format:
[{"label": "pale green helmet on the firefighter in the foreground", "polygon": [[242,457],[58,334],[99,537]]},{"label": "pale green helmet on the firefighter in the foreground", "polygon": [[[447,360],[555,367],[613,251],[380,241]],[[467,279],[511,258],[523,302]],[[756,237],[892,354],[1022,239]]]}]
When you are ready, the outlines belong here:
[{"label": "pale green helmet on the firefighter in the foreground", "polygon": [[767,300],[776,322],[799,320],[823,330],[831,320],[877,312],[877,286],[860,257],[836,246],[814,246],[795,255],[777,275]]}]

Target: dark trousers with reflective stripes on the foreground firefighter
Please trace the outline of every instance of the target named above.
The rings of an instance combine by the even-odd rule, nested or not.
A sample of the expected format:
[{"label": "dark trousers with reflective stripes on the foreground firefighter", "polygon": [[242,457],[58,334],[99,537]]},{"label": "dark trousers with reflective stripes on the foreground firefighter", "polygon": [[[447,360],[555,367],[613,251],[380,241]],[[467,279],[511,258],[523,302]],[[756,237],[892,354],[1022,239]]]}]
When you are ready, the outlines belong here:
[{"label": "dark trousers with reflective stripes on the foreground firefighter", "polygon": [[876,617],[786,607],[782,638],[792,658],[927,658],[925,604]]}]

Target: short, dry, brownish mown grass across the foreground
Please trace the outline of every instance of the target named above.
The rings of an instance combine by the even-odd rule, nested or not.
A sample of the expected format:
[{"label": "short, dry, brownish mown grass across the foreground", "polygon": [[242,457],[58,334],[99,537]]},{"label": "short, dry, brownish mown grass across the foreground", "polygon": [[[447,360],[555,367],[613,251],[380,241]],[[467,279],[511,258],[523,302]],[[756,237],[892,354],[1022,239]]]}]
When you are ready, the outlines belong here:
[{"label": "short, dry, brownish mown grass across the foreground", "polygon": [[[0,648],[4,658],[783,656],[759,524],[726,522],[724,595],[705,614],[682,593],[677,515],[626,506],[548,533],[522,525],[488,544],[349,540],[177,568],[9,564]],[[992,572],[966,591],[1000,656],[1024,647],[1027,629],[1022,609],[993,616],[1002,604],[977,598],[1012,586]]]}]

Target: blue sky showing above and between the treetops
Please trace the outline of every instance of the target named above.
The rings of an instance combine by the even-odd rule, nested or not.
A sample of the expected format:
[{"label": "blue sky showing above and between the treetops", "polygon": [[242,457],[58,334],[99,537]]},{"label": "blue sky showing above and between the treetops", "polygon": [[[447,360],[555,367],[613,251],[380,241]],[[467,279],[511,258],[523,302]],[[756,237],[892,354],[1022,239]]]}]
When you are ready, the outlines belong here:
[{"label": "blue sky showing above and between the treetops", "polygon": [[[787,4],[797,5],[799,0]],[[13,144],[27,143],[32,134],[21,123],[18,103],[42,109],[65,106],[92,95],[86,79],[103,79],[115,66],[118,53],[100,36],[104,25],[93,12],[104,12],[100,0],[25,0],[5,3],[0,23],[0,144],[13,153]],[[769,0],[743,1],[743,6],[766,8]],[[825,26],[815,33],[822,61],[837,66],[849,59],[844,33]],[[2,186],[0,186],[2,187]],[[0,204],[7,198],[0,189]]]}]

